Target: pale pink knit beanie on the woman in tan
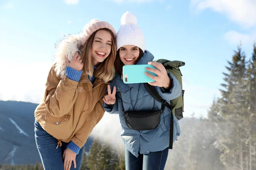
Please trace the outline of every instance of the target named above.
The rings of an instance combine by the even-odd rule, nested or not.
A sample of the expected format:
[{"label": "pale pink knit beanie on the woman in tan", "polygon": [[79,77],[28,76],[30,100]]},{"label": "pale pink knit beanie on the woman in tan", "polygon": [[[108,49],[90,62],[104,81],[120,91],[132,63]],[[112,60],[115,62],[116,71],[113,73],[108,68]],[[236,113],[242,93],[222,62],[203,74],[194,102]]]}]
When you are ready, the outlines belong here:
[{"label": "pale pink knit beanie on the woman in tan", "polygon": [[95,31],[102,29],[102,28],[108,28],[110,31],[113,32],[114,36],[116,37],[116,31],[113,28],[113,26],[111,26],[110,23],[108,23],[106,21],[100,21],[100,20],[93,19],[84,26],[83,45]]}]

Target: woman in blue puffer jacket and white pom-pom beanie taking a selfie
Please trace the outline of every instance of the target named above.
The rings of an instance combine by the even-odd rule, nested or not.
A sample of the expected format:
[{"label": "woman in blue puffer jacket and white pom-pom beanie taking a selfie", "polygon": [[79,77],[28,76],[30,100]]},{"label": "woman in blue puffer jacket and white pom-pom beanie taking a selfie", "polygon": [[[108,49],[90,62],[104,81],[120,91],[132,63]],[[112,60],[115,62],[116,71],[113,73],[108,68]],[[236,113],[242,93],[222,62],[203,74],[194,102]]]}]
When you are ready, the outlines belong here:
[{"label": "woman in blue puffer jacket and white pom-pom beanie taking a selfie", "polygon": [[[142,30],[137,26],[137,18],[130,12],[123,14],[121,26],[116,34],[117,54],[115,61],[116,76],[108,85],[108,94],[103,97],[103,107],[108,113],[119,114],[121,137],[125,144],[126,170],[163,170],[169,152],[169,134],[171,114],[166,106],[160,115],[159,125],[152,130],[134,130],[125,122],[125,112],[160,111],[162,103],[158,102],[145,89],[143,83],[125,84],[122,76],[123,65],[150,64],[154,68],[147,71],[157,74],[149,83],[166,101],[181,95],[180,83],[172,74],[166,72],[162,64],[152,62],[154,56],[145,50]],[[175,116],[173,142],[180,135],[180,127]],[[129,118],[128,118],[129,119]]]}]

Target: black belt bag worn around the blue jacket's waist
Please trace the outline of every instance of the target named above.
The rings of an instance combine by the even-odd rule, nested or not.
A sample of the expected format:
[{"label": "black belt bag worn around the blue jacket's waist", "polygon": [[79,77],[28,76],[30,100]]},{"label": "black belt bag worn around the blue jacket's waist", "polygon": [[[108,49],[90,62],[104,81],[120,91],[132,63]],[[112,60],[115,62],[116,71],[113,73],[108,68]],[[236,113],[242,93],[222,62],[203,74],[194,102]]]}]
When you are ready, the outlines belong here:
[{"label": "black belt bag worn around the blue jacket's waist", "polygon": [[133,130],[153,130],[160,124],[161,114],[163,113],[164,105],[162,104],[161,111],[124,111],[126,125]]}]

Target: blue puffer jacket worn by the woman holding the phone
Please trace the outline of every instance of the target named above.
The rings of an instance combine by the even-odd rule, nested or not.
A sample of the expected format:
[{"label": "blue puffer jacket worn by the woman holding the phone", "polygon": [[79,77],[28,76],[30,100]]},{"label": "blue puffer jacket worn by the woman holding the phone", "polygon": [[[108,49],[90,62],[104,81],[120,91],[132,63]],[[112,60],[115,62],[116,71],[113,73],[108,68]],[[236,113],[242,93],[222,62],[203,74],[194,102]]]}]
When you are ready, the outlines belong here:
[{"label": "blue puffer jacket worn by the woman holding the phone", "polygon": [[[145,51],[137,64],[147,64],[153,59],[154,56]],[[157,87],[160,96],[167,101],[181,95],[180,83],[171,74],[169,74],[169,77],[172,79],[172,88],[169,91]],[[159,111],[161,102],[155,100],[146,91],[143,83],[125,84],[118,74],[111,81],[111,91],[113,91],[114,86],[116,86],[116,103],[112,107],[104,103],[103,107],[108,113],[119,114],[122,125],[121,136],[125,147],[136,157],[138,157],[139,151],[141,154],[147,154],[164,150],[168,147],[171,111],[167,107],[164,109],[160,125],[154,130],[132,130],[126,125],[125,117],[122,113],[122,104],[125,111]],[[177,140],[177,136],[180,136],[180,126],[174,116],[173,142]]]}]

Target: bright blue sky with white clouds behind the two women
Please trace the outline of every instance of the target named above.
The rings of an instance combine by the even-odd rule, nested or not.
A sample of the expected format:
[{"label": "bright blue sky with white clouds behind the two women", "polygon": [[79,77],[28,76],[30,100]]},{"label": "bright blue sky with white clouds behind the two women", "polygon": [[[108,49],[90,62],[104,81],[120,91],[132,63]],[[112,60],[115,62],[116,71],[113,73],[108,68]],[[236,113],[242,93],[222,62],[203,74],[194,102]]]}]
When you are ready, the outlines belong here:
[{"label": "bright blue sky with white clouds behind the two women", "polygon": [[239,41],[251,57],[255,9],[255,0],[1,0],[0,99],[39,103],[54,43],[91,19],[108,21],[118,31],[122,14],[130,11],[156,59],[186,62],[184,115],[206,116]]}]

